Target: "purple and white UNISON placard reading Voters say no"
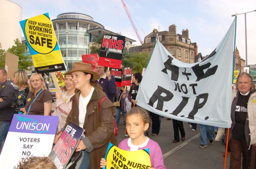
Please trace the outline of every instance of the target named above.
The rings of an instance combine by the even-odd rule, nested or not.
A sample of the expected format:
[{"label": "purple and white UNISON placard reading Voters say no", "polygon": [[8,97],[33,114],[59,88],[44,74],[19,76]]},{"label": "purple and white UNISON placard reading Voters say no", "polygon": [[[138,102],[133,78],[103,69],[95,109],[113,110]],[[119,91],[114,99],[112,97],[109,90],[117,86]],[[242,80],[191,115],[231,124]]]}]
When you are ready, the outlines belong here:
[{"label": "purple and white UNISON placard reading Voters say no", "polygon": [[0,168],[14,168],[21,158],[48,156],[57,123],[57,116],[14,114],[1,152]]}]

